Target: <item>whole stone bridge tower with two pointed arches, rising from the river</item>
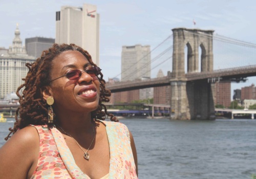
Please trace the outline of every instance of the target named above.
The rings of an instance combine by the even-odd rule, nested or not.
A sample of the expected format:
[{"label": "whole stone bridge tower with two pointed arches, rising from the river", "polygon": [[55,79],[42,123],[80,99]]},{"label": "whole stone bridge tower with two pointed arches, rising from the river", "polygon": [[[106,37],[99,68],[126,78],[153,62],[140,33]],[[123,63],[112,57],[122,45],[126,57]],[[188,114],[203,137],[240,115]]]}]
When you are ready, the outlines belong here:
[{"label": "whole stone bridge tower with two pointed arches, rising from the river", "polygon": [[[172,99],[170,106],[174,114],[171,119],[215,119],[215,85],[207,80],[187,81],[185,77],[185,53],[187,46],[187,73],[213,71],[213,30],[175,28],[173,31],[173,72],[170,85]],[[199,47],[201,68],[199,69]]]}]

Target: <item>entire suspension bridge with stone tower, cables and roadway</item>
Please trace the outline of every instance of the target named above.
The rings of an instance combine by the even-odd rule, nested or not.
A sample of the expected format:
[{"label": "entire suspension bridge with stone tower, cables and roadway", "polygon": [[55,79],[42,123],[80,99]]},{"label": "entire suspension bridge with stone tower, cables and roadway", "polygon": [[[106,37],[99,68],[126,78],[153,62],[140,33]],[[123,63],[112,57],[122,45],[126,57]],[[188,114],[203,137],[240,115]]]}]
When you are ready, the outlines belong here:
[{"label": "entire suspension bridge with stone tower, cables and roadway", "polygon": [[[115,93],[170,85],[170,107],[174,112],[170,115],[172,119],[214,120],[213,94],[216,82],[240,82],[247,77],[256,76],[256,44],[215,35],[213,30],[175,28],[172,31],[173,34],[159,46],[168,39],[172,40],[172,44],[157,54],[152,59],[152,64],[148,64],[155,68],[170,60],[167,76],[147,80],[123,80],[114,84],[108,83],[107,87]],[[232,55],[226,55],[226,49]],[[152,52],[154,50],[156,48]],[[165,59],[160,61],[161,57]],[[158,63],[153,65],[153,61]]]}]

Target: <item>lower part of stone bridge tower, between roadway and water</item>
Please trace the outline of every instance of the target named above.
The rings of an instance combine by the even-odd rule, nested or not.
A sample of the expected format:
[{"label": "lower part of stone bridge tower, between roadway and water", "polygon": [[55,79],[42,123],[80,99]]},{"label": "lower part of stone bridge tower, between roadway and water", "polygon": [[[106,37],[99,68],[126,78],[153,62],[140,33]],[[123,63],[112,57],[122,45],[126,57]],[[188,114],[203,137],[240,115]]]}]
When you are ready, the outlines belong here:
[{"label": "lower part of stone bridge tower, between roadway and water", "polygon": [[215,84],[203,81],[171,81],[170,119],[215,120]]}]

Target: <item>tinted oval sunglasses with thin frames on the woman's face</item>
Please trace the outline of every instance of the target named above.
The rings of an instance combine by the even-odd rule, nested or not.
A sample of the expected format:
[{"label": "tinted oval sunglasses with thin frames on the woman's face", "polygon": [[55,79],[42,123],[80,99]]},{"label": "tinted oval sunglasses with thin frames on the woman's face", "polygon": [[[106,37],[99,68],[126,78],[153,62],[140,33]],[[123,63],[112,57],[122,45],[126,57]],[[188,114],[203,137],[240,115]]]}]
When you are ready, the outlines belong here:
[{"label": "tinted oval sunglasses with thin frames on the woman's face", "polygon": [[[89,68],[87,68],[86,70],[83,70],[83,71],[71,70],[66,75],[60,76],[56,79],[59,79],[61,77],[66,76],[70,80],[78,80],[82,76],[83,72],[86,72],[91,77],[95,77],[95,76],[99,75],[100,71],[101,71],[101,69],[98,66],[91,66],[91,67],[89,67]],[[54,80],[56,80],[56,79],[54,79]],[[52,81],[54,81],[54,80],[52,80]],[[52,81],[50,81],[50,82],[52,82]]]}]

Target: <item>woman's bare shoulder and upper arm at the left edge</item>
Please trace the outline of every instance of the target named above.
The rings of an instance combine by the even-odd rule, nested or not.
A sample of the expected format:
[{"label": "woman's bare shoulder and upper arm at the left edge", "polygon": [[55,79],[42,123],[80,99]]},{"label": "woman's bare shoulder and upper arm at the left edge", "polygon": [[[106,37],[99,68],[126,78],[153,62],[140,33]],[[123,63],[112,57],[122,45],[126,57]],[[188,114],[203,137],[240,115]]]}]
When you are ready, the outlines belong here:
[{"label": "woman's bare shoulder and upper arm at the left edge", "polygon": [[37,162],[38,154],[39,136],[36,128],[28,126],[18,130],[0,148],[0,176],[27,178],[31,167]]}]

